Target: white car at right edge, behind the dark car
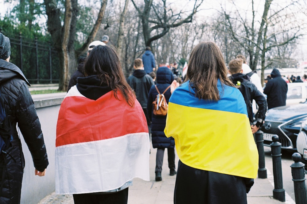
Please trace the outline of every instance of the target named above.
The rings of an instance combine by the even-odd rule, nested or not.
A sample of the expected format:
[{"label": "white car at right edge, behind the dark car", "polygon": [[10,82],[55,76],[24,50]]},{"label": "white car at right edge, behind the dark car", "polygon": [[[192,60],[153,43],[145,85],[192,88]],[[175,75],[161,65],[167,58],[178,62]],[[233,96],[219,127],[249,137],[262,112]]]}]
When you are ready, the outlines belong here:
[{"label": "white car at right edge, behind the dark car", "polygon": [[307,83],[288,83],[286,105],[305,102],[307,98]]}]

